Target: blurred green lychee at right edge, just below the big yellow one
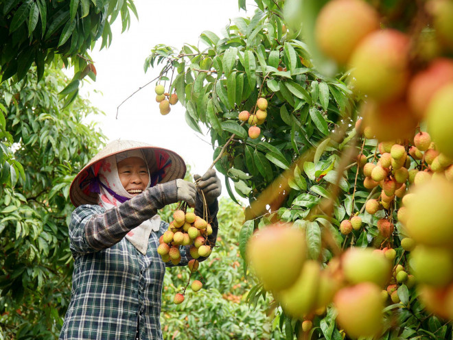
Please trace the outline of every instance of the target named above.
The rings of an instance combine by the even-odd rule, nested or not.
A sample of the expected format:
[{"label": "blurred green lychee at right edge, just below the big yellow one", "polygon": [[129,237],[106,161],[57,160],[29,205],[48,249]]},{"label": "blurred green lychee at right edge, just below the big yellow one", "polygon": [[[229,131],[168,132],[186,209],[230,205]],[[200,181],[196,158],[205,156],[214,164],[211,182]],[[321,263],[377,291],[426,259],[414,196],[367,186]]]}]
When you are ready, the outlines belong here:
[{"label": "blurred green lychee at right edge, just below the big yellow one", "polygon": [[453,280],[453,256],[449,249],[417,245],[410,253],[410,265],[421,283],[444,287]]}]

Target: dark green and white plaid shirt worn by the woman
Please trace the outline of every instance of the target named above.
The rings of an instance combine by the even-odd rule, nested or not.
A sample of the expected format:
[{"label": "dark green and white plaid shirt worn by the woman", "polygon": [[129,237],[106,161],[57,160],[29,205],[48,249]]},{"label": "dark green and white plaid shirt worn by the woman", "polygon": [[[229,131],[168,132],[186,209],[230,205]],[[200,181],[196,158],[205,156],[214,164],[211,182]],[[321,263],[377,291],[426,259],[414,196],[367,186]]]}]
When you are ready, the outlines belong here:
[{"label": "dark green and white plaid shirt worn by the woman", "polygon": [[[74,258],[71,302],[60,339],[163,339],[161,324],[162,282],[165,266],[157,253],[159,232],[151,232],[146,255],[124,236],[142,221],[156,215],[165,204],[176,202],[176,184],[158,184],[115,208],[82,205],[76,208],[69,225]],[[196,215],[202,216],[197,195]],[[209,206],[215,243],[218,224],[217,201]],[[188,247],[181,246],[181,263],[191,260]],[[198,258],[205,260],[205,258]]]}]

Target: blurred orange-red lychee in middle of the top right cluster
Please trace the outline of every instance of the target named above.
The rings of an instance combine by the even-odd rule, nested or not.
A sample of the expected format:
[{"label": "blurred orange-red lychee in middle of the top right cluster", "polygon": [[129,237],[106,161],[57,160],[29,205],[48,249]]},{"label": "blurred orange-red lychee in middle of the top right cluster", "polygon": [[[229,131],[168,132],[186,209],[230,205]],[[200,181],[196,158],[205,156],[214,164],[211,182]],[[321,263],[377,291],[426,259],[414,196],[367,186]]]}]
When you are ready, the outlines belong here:
[{"label": "blurred orange-red lychee in middle of the top right cluster", "polygon": [[395,29],[367,34],[351,55],[354,86],[378,101],[402,95],[408,82],[408,49],[408,36]]}]

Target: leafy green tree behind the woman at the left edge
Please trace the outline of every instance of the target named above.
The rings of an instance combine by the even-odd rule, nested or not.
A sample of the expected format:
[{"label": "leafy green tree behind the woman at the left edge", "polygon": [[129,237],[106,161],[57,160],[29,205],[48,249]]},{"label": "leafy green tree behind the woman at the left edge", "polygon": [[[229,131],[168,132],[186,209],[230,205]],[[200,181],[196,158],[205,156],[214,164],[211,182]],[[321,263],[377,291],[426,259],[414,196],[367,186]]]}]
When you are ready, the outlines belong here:
[{"label": "leafy green tree behind the woman at the left edge", "polygon": [[58,93],[67,77],[61,66],[45,69],[39,82],[32,68],[26,79],[0,87],[3,127],[13,150],[1,145],[6,161],[0,186],[0,325],[14,339],[59,334],[71,296],[69,186],[105,141],[93,125],[82,123],[99,113],[89,101],[77,97],[62,108]]}]

